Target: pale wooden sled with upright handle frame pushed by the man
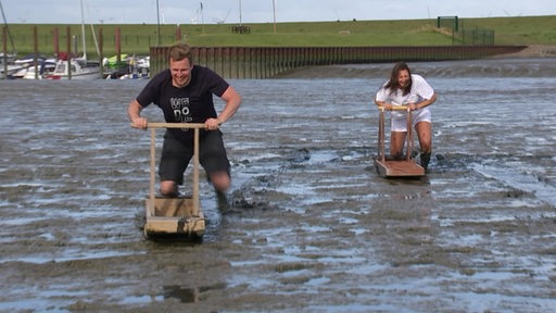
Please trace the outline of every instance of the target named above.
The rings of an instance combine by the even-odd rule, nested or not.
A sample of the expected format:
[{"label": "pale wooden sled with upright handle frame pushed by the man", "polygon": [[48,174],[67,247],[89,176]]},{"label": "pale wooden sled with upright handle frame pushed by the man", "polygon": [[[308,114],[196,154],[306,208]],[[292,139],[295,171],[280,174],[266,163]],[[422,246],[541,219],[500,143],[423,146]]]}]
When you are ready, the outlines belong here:
[{"label": "pale wooden sled with upright handle frame pushed by the man", "polygon": [[[202,237],[205,230],[205,218],[199,200],[199,129],[201,123],[148,123],[151,129],[151,160],[149,197],[146,200],[144,235],[186,235]],[[156,128],[192,128],[194,134],[193,148],[193,181],[190,197],[165,198],[155,196],[155,133]]]}]

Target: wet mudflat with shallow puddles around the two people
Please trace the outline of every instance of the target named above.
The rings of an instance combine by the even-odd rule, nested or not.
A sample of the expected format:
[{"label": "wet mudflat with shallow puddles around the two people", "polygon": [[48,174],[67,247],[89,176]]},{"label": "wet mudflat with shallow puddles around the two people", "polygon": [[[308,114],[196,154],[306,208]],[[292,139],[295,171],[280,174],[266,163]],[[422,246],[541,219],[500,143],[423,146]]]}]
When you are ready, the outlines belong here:
[{"label": "wet mudflat with shallow puddles around the two people", "polygon": [[410,64],[440,95],[417,180],[372,165],[391,64],[231,80],[235,205],[202,179],[201,243],[142,236],[149,136],[126,108],[144,80],[2,80],[0,311],[548,312],[555,64]]}]

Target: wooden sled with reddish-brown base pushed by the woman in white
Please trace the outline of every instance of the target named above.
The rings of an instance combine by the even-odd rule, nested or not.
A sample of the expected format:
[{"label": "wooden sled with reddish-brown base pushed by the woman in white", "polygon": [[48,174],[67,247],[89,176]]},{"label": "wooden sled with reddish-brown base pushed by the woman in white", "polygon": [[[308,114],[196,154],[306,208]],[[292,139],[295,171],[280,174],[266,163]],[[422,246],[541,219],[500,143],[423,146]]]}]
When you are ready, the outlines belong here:
[{"label": "wooden sled with reddish-brown base pushed by the woman in white", "polygon": [[394,105],[392,111],[407,111],[407,135],[405,156],[403,159],[394,159],[386,155],[384,148],[384,107],[379,108],[380,118],[378,128],[378,155],[375,158],[375,167],[382,177],[420,177],[425,176],[425,168],[417,164],[412,158],[413,150],[413,123],[412,111],[405,105]]}]

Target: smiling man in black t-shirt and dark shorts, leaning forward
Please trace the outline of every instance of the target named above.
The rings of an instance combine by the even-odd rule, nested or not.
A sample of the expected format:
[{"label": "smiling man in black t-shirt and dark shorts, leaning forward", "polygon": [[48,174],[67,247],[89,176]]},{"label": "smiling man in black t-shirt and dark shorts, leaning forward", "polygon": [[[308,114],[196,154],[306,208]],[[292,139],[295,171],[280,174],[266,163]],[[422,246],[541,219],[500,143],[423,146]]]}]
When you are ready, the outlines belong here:
[{"label": "smiling man in black t-shirt and dark shorts, leaning forward", "polygon": [[[177,43],[169,49],[169,67],[156,74],[139,96],[131,100],[127,113],[132,127],[146,129],[147,118],[140,115],[151,103],[162,109],[167,123],[204,123],[200,129],[199,160],[218,196],[229,188],[230,164],[219,125],[226,123],[241,104],[238,92],[207,67],[193,64],[191,48]],[[213,95],[226,105],[219,114]],[[168,128],[164,134],[159,175],[160,189],[165,197],[177,197],[178,185],[193,155],[193,129]]]}]

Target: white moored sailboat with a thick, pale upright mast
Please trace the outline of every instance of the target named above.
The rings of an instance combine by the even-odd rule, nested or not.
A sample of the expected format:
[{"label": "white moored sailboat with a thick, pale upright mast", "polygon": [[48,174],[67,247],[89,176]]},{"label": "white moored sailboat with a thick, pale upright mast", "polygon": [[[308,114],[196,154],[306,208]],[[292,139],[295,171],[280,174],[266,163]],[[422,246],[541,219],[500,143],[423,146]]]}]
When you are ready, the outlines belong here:
[{"label": "white moored sailboat with a thick, pale upright mast", "polygon": [[71,58],[67,53],[60,53],[56,66],[48,79],[100,79],[101,66],[87,61],[87,48],[85,45],[85,14],[81,0],[81,39],[83,57]]}]

